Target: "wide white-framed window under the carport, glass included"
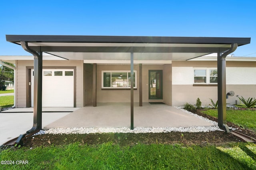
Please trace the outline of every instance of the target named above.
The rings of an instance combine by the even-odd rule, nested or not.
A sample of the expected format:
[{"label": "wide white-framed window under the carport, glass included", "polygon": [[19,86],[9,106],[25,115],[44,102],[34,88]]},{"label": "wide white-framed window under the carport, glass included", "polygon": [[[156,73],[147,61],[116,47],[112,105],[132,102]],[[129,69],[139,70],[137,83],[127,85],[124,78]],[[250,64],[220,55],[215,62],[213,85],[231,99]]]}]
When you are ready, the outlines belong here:
[{"label": "wide white-framed window under the carport, glass included", "polygon": [[[101,72],[102,89],[130,89],[130,70],[104,70]],[[137,88],[137,71],[134,71],[134,88]]]}]

